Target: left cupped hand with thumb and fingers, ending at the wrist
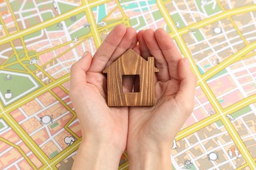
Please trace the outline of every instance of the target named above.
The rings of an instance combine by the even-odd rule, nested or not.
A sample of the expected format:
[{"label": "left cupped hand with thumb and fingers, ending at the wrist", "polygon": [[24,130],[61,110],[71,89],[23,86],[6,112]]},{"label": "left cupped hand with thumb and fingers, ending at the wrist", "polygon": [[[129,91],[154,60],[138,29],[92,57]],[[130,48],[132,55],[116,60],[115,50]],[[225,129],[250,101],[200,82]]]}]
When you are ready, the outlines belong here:
[{"label": "left cupped hand with thumb and fingers, ending at the wrist", "polygon": [[93,58],[89,52],[85,52],[71,69],[70,97],[81,124],[81,146],[83,143],[91,143],[99,148],[102,145],[113,148],[117,152],[118,161],[127,143],[129,109],[108,107],[106,77],[102,75],[102,71],[126,50],[135,46],[135,29],[117,25]]}]

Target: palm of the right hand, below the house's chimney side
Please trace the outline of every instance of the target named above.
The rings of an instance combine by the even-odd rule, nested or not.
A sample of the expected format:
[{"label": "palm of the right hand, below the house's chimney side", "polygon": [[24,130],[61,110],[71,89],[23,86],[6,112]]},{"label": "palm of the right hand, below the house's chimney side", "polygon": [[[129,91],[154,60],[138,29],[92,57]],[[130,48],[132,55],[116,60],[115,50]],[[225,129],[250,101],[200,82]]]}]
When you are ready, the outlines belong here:
[{"label": "palm of the right hand, below the house's chimney side", "polygon": [[[177,80],[156,82],[156,104],[154,107],[131,107],[129,109],[128,140],[137,139],[145,144],[147,141],[152,141],[152,136],[156,142],[173,139],[173,136],[168,135],[170,134],[169,123],[177,122],[177,118],[179,118],[177,115],[179,108],[175,101],[178,89],[179,81]],[[177,126],[173,124],[171,129],[177,129]]]}]

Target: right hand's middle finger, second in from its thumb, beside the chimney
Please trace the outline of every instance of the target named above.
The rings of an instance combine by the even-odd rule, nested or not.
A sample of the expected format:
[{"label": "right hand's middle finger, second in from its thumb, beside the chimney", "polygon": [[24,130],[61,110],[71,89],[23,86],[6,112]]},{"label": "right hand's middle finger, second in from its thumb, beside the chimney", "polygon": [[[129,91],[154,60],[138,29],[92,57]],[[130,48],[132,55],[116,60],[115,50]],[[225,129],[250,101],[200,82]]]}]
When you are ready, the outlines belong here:
[{"label": "right hand's middle finger, second in from its thumb, beside the chimney", "polygon": [[165,60],[163,53],[161,52],[158,41],[156,41],[154,31],[152,29],[147,29],[146,31],[144,31],[143,37],[146,42],[146,46],[148,46],[150,54],[152,54],[152,56],[154,56],[155,58],[156,67],[159,69],[159,73],[157,74],[158,80],[169,80],[170,76],[167,61]]}]

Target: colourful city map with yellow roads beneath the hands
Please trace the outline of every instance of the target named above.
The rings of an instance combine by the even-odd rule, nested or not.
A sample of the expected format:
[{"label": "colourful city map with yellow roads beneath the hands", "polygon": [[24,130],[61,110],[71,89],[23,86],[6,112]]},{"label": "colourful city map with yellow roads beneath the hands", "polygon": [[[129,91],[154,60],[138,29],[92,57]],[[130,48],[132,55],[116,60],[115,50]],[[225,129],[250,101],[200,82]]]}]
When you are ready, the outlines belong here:
[{"label": "colourful city map with yellow roads beneath the hands", "polygon": [[173,169],[256,169],[256,0],[0,0],[0,169],[72,167],[70,67],[117,24],[162,27],[198,77]]}]

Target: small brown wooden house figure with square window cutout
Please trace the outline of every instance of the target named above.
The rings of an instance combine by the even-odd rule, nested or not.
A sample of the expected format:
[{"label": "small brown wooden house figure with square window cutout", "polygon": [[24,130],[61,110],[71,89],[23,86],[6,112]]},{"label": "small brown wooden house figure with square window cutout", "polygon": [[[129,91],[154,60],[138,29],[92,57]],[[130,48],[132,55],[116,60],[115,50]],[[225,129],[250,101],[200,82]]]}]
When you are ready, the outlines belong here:
[{"label": "small brown wooden house figure with square window cutout", "polygon": [[[129,49],[114,63],[104,69],[108,78],[108,106],[152,106],[155,104],[154,57],[148,61]],[[123,92],[123,75],[139,75],[139,92]]]}]

